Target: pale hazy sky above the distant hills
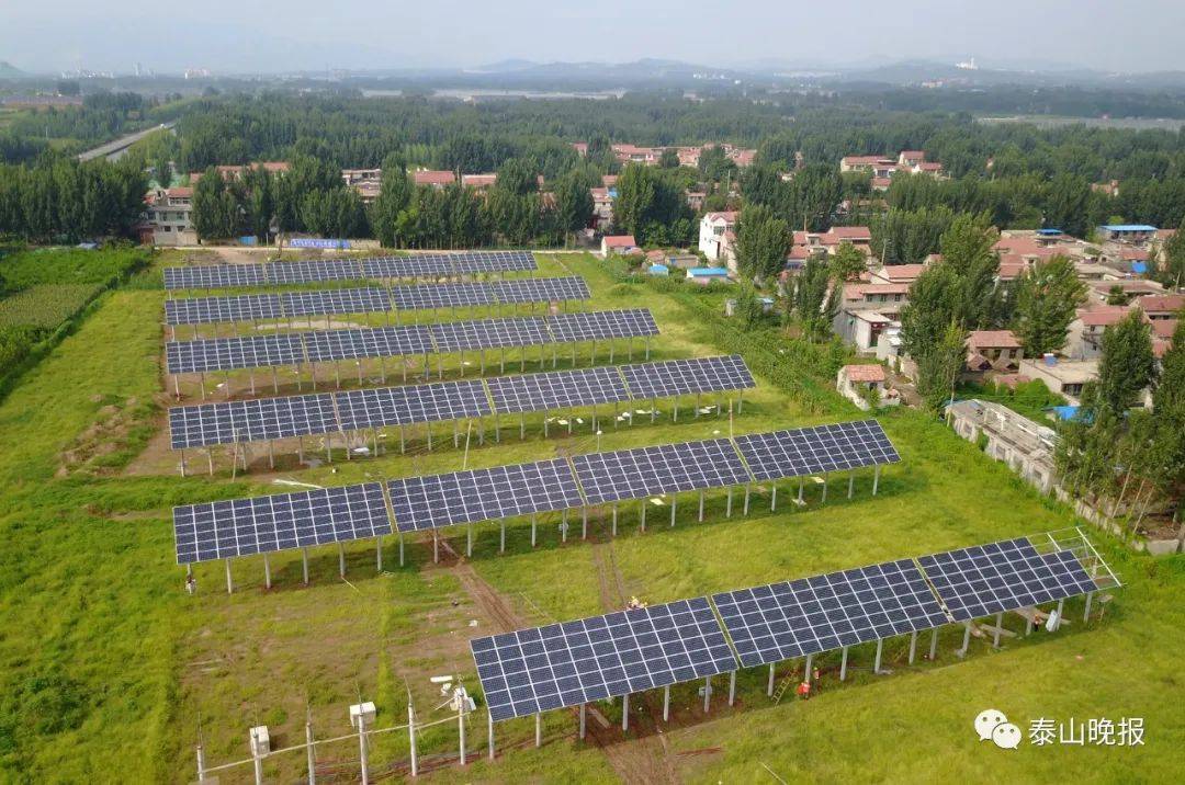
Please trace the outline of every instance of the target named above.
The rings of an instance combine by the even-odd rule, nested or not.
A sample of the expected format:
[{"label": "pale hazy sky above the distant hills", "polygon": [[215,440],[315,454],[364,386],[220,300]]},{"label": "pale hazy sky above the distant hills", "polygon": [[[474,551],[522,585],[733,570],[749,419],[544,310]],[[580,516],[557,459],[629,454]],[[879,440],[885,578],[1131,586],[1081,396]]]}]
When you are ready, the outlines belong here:
[{"label": "pale hazy sky above the distant hills", "polygon": [[971,56],[1153,71],[1185,70],[1183,41],[1183,0],[0,0],[0,60],[49,72]]}]

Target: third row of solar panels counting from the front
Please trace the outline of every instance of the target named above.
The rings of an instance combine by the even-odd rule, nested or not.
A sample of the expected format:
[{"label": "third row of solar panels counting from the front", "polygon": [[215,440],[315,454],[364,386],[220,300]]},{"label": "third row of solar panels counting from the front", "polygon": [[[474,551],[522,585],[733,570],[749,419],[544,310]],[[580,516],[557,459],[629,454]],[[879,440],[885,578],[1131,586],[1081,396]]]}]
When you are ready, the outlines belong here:
[{"label": "third row of solar panels counting from the front", "polygon": [[173,449],[185,450],[754,386],[744,360],[731,355],[174,406],[168,426]]}]

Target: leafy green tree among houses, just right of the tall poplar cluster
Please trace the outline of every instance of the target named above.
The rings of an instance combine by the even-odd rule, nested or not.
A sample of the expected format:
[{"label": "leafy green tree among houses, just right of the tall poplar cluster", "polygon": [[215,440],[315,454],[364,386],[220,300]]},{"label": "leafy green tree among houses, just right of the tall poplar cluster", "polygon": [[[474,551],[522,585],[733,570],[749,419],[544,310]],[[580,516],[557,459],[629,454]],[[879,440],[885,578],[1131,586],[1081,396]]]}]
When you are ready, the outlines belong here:
[{"label": "leafy green tree among houses, just right of the tall poplar cluster", "polygon": [[1017,284],[1013,329],[1025,354],[1039,358],[1065,346],[1075,311],[1087,298],[1087,287],[1065,256],[1039,260]]}]

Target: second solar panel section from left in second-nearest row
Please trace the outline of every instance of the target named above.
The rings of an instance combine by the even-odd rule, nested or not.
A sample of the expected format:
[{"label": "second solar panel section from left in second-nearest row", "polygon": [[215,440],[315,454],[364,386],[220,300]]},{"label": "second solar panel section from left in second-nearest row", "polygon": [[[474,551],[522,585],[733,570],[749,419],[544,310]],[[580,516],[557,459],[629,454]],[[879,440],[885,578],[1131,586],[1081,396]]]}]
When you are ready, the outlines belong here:
[{"label": "second solar panel section from left in second-nearest row", "polygon": [[494,521],[583,504],[562,459],[404,477],[386,484],[401,532]]}]

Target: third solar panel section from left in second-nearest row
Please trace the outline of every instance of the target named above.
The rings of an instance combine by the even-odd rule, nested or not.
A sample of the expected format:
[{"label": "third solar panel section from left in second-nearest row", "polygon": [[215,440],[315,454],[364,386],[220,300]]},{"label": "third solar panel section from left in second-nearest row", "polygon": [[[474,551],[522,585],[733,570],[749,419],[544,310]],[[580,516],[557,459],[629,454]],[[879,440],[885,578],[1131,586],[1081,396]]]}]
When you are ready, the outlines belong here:
[{"label": "third solar panel section from left in second-nearest row", "polygon": [[572,458],[590,504],[749,482],[729,439],[594,452]]}]

